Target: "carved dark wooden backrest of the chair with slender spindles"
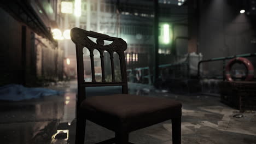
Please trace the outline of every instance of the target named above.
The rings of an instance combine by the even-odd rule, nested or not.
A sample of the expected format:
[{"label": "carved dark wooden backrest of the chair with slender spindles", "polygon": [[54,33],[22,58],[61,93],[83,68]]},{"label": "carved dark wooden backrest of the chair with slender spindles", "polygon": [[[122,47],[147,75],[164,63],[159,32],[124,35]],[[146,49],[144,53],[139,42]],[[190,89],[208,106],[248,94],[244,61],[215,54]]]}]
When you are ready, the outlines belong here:
[{"label": "carved dark wooden backrest of the chair with slender spindles", "polygon": [[[96,42],[92,41],[89,37],[96,38]],[[97,87],[97,86],[122,86],[122,92],[127,93],[127,74],[126,74],[126,63],[124,51],[127,49],[126,42],[121,38],[109,37],[106,34],[96,33],[93,31],[85,31],[80,28],[71,29],[71,39],[75,43],[75,50],[77,55],[77,77],[78,77],[78,104],[80,101],[85,99],[85,87]],[[104,45],[104,40],[113,41],[109,45]],[[86,47],[90,52],[91,60],[91,82],[85,82],[84,80],[84,59],[83,49]],[[101,72],[102,81],[96,82],[95,80],[95,69],[94,69],[94,50],[100,52],[101,60]],[[106,82],[105,71],[104,71],[104,51],[109,52],[110,64],[112,71],[112,81]],[[117,52],[119,55],[120,69],[121,69],[121,82],[115,81],[114,71],[114,57],[113,53]],[[80,96],[79,96],[80,95]]]}]

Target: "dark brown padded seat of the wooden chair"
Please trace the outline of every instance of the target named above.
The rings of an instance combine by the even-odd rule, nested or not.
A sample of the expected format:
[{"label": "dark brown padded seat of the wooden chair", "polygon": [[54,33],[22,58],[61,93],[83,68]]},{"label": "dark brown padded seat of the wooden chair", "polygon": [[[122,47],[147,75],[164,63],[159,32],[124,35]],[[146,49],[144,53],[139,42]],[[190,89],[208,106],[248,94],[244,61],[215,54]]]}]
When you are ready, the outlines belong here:
[{"label": "dark brown padded seat of the wooden chair", "polygon": [[80,106],[92,122],[114,131],[133,131],[180,117],[182,104],[166,98],[114,94],[90,97]]}]

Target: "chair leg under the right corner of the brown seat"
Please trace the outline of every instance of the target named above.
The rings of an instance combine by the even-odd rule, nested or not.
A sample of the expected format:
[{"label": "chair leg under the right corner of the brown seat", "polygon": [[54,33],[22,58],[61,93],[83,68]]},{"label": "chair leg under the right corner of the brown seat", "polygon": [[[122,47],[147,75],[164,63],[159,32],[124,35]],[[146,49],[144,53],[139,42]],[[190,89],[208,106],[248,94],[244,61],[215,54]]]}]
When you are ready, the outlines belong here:
[{"label": "chair leg under the right corner of the brown seat", "polygon": [[181,117],[172,118],[172,143],[181,144]]}]

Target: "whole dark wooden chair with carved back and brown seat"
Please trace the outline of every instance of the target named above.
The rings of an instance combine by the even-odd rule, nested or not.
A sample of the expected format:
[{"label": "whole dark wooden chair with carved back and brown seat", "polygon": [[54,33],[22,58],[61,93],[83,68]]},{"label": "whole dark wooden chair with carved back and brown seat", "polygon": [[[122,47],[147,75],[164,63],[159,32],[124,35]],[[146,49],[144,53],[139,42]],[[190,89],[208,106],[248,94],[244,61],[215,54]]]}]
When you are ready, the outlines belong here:
[{"label": "whole dark wooden chair with carved back and brown seat", "polygon": [[[88,37],[96,38],[97,44]],[[142,97],[127,94],[127,76],[124,51],[127,44],[123,39],[108,35],[85,31],[80,28],[71,29],[71,39],[75,43],[77,54],[78,100],[77,100],[77,130],[75,143],[84,143],[86,119],[115,132],[115,137],[99,143],[126,144],[129,133],[141,128],[149,127],[168,119],[172,119],[172,142],[181,143],[181,115],[182,104],[178,101]],[[104,40],[113,41],[104,45]],[[92,81],[84,81],[83,48],[90,51]],[[100,52],[102,81],[96,82],[93,51]],[[112,70],[112,82],[106,82],[104,73],[103,52],[109,52]],[[117,52],[120,59],[121,82],[115,81],[113,52]],[[123,94],[95,96],[85,99],[85,87],[122,86]]]}]

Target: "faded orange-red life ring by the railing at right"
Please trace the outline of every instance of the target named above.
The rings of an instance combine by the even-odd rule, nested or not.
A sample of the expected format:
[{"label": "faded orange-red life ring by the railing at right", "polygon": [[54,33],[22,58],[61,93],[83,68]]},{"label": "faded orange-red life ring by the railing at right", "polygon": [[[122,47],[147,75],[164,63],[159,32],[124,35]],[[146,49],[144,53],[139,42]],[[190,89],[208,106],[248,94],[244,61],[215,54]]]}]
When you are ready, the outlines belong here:
[{"label": "faded orange-red life ring by the railing at right", "polygon": [[245,81],[250,81],[253,79],[254,68],[253,68],[253,64],[251,63],[251,61],[249,61],[249,59],[244,58],[244,57],[236,57],[236,58],[231,59],[229,61],[228,65],[226,65],[226,68],[225,68],[226,80],[233,81],[231,78],[230,70],[231,70],[232,65],[234,65],[235,63],[243,63],[246,66],[247,75],[246,75]]}]

